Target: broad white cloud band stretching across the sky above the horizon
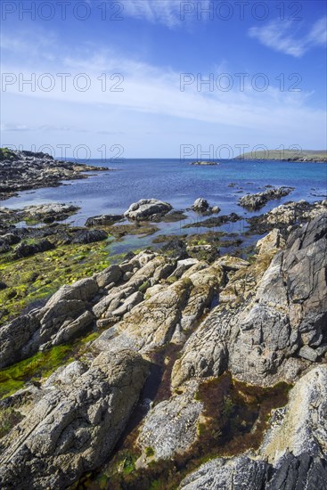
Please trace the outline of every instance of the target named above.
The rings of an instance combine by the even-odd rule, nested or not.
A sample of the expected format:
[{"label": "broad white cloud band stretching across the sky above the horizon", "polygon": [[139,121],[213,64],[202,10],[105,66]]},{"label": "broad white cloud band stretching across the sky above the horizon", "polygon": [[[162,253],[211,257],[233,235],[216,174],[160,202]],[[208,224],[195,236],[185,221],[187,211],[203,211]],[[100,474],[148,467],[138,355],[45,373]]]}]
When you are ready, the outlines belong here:
[{"label": "broad white cloud band stretching across the sky above the horizon", "polygon": [[[40,48],[39,53],[29,55],[29,45],[20,43],[19,35],[15,38],[17,43],[12,46],[15,56],[7,56],[6,53],[3,57],[3,73],[21,74],[28,79],[31,73],[39,78],[47,72],[53,75],[55,86],[50,92],[39,87],[33,92],[29,86],[24,86],[21,91],[18,83],[7,86],[2,94],[5,101],[2,113],[7,123],[4,125],[5,133],[10,136],[8,143],[13,141],[13,131],[21,132],[21,141],[24,135],[29,135],[41,143],[45,135],[50,141],[62,143],[68,138],[69,142],[80,143],[80,134],[89,131],[87,140],[99,141],[99,147],[107,139],[114,143],[129,139],[129,142],[141,145],[153,127],[159,134],[166,131],[166,146],[174,138],[182,140],[181,143],[189,143],[187,138],[192,137],[190,128],[197,135],[201,131],[208,132],[208,135],[211,132],[208,138],[213,138],[216,131],[215,134],[224,137],[225,141],[228,141],[226,135],[233,134],[249,134],[258,141],[259,135],[266,131],[275,138],[293,136],[294,141],[290,143],[302,144],[303,137],[308,138],[306,128],[312,127],[316,140],[323,141],[325,113],[309,106],[311,94],[281,92],[278,86],[274,86],[274,79],[270,80],[265,92],[254,90],[249,78],[244,92],[240,92],[235,78],[229,92],[219,91],[216,87],[214,92],[208,92],[206,86],[199,92],[196,81],[182,92],[180,73],[169,67],[122,58],[121,53],[112,49],[101,50],[99,46],[90,44],[81,45],[79,52],[74,50],[70,53],[56,44],[53,48],[49,46],[45,51]],[[10,46],[7,50],[10,54]],[[74,77],[81,72],[86,73],[91,81],[87,92],[80,92],[73,85]],[[61,90],[57,73],[71,75],[67,79],[66,91]],[[105,91],[102,91],[99,80],[102,73],[108,75]],[[117,81],[110,80],[112,73],[123,75],[123,92],[110,91],[110,86]],[[20,124],[15,124],[17,121]],[[180,135],[181,130],[184,137]],[[157,144],[161,144],[161,140],[155,139]],[[154,145],[153,142],[151,144]],[[316,144],[312,143],[312,146]],[[162,151],[161,154],[165,154]]]}]

